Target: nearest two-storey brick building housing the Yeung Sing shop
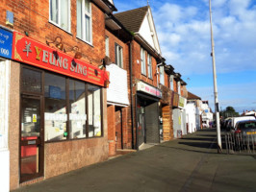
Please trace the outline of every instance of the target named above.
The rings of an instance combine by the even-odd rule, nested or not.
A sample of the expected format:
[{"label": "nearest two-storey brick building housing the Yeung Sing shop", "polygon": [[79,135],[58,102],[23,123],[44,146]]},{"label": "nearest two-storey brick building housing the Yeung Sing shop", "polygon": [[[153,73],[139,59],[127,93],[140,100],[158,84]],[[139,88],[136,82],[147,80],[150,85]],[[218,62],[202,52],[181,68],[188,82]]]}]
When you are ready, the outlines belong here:
[{"label": "nearest two-storey brick building housing the Yeung Sing shop", "polygon": [[1,34],[13,37],[13,56],[0,60],[10,84],[1,137],[10,189],[108,158],[108,73],[98,66],[113,11],[101,0],[2,2]]}]

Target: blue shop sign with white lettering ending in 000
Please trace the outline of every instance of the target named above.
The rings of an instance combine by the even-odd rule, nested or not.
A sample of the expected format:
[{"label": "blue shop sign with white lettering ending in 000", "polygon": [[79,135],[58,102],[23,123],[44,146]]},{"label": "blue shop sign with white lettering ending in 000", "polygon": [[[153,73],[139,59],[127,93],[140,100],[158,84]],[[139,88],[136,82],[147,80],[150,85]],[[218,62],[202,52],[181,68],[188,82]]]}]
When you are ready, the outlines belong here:
[{"label": "blue shop sign with white lettering ending in 000", "polygon": [[0,28],[0,57],[12,59],[13,33]]}]

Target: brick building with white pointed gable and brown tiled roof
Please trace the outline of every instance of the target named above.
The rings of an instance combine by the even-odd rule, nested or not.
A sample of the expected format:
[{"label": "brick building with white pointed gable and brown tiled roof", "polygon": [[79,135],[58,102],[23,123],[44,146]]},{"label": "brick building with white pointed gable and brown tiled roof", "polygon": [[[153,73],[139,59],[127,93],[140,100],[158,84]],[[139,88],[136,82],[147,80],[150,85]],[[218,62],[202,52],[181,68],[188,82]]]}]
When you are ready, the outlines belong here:
[{"label": "brick building with white pointed gable and brown tiled roof", "polygon": [[115,17],[130,31],[131,41],[131,106],[133,146],[160,142],[159,67],[164,58],[158,42],[152,12],[149,7],[118,12]]}]

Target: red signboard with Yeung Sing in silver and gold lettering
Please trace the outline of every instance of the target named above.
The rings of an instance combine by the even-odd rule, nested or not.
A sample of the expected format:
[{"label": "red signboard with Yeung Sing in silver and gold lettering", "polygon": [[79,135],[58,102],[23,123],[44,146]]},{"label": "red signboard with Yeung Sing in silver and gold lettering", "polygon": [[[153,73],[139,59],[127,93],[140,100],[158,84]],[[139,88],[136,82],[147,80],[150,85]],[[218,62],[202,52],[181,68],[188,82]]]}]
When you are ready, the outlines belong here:
[{"label": "red signboard with Yeung Sing in silver and gold lettering", "polygon": [[104,86],[109,73],[83,60],[77,60],[62,51],[51,48],[28,36],[13,33],[13,60]]}]

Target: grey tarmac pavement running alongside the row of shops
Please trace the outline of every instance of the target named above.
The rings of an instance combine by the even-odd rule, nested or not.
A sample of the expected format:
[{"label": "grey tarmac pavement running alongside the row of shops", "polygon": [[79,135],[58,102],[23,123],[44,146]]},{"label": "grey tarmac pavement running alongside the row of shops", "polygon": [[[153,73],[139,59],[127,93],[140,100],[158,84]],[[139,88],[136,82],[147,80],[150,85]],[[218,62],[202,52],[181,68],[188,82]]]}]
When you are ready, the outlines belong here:
[{"label": "grey tarmac pavement running alongside the row of shops", "polygon": [[218,154],[216,130],[201,130],[16,192],[256,191],[256,155]]}]

